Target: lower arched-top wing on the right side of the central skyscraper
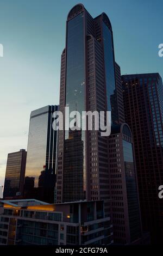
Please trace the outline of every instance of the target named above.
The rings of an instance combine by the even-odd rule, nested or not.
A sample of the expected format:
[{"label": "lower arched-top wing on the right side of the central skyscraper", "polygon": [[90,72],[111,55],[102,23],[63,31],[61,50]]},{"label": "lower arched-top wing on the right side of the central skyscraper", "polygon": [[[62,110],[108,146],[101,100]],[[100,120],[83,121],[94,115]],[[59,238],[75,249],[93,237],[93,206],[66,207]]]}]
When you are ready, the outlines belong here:
[{"label": "lower arched-top wing on the right side of the central skyscraper", "polygon": [[141,243],[142,228],[133,138],[127,124],[112,125],[109,136],[111,218],[114,243]]}]

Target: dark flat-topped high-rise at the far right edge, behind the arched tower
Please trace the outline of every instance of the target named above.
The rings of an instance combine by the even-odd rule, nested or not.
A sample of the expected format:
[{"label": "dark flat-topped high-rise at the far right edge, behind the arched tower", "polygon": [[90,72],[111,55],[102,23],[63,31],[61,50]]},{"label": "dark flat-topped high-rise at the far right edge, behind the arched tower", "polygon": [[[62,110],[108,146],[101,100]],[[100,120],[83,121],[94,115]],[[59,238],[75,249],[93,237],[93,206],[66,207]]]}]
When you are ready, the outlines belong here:
[{"label": "dark flat-topped high-rise at the far right edge, behind the arched tower", "polygon": [[133,133],[143,230],[163,239],[163,86],[158,73],[123,75],[126,123]]}]

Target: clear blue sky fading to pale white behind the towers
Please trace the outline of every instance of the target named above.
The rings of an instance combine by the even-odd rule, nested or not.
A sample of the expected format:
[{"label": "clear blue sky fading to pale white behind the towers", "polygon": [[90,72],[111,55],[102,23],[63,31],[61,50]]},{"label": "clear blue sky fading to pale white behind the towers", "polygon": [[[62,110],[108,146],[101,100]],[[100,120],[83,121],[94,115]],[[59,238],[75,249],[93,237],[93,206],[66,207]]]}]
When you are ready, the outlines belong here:
[{"label": "clear blue sky fading to pale white behind the towers", "polygon": [[[162,0],[80,1],[95,17],[103,11],[114,32],[122,74],[159,72],[163,77]],[[60,54],[68,11],[76,0],[0,0],[0,185],[7,154],[27,149],[30,111],[59,103]]]}]

